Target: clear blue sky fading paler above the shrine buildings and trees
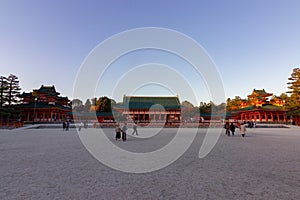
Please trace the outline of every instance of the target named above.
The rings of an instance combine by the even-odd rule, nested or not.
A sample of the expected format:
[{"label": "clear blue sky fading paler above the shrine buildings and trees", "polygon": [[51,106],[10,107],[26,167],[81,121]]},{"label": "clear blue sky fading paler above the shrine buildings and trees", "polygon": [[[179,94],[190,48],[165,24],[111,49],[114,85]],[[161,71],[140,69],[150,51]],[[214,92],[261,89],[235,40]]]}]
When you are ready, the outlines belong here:
[{"label": "clear blue sky fading paler above the shrine buildings and trees", "polygon": [[[218,67],[226,97],[246,98],[253,88],[280,95],[300,66],[299,10],[299,0],[0,0],[0,75],[17,75],[26,92],[55,85],[72,98],[76,74],[100,42],[132,28],[163,27],[202,45]],[[153,54],[128,58],[141,64],[149,61],[147,53]],[[151,87],[137,94],[150,93]],[[206,93],[200,90],[197,102],[180,99],[199,105],[210,100]]]}]

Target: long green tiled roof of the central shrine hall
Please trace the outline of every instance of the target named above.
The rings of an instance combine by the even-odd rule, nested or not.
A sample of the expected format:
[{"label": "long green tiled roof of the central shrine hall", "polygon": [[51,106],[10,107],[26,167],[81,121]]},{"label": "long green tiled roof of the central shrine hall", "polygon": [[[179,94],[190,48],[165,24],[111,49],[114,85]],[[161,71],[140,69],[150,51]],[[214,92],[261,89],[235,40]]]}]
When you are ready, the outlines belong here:
[{"label": "long green tiled roof of the central shrine hall", "polygon": [[124,96],[121,107],[129,109],[150,109],[158,104],[164,109],[180,109],[178,97]]}]

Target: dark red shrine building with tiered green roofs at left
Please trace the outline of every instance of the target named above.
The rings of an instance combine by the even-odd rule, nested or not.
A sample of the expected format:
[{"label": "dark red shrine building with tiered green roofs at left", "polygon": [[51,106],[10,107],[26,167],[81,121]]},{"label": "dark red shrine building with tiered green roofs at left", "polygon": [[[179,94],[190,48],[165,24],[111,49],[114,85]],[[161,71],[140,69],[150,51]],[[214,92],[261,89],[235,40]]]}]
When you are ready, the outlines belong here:
[{"label": "dark red shrine building with tiered green roofs at left", "polygon": [[24,122],[61,122],[72,118],[68,97],[59,96],[54,86],[42,85],[32,92],[21,94],[21,121]]}]

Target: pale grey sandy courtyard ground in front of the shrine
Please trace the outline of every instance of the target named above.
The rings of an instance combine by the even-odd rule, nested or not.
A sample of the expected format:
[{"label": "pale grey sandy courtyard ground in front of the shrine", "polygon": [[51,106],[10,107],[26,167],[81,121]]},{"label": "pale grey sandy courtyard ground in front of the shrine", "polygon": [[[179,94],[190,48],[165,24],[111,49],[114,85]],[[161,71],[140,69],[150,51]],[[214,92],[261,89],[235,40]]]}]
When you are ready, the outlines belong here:
[{"label": "pale grey sandy courtyard ground in front of the shrine", "polygon": [[[105,132],[114,139],[113,129]],[[175,132],[128,136],[117,145],[153,151]],[[0,130],[0,199],[300,199],[300,128],[249,129],[245,138],[222,134],[199,159],[204,135],[200,129],[168,167],[131,174],[94,159],[75,129]]]}]

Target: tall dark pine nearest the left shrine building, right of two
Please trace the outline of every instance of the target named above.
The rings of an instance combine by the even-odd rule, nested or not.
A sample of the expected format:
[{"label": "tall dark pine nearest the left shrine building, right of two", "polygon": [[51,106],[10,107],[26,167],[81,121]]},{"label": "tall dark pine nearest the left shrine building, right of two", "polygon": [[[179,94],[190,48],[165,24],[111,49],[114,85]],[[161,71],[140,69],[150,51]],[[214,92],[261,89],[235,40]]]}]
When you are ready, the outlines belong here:
[{"label": "tall dark pine nearest the left shrine building, right of two", "polygon": [[7,104],[8,108],[11,108],[11,105],[17,104],[20,99],[20,86],[19,86],[19,80],[18,77],[10,74],[7,78]]}]

